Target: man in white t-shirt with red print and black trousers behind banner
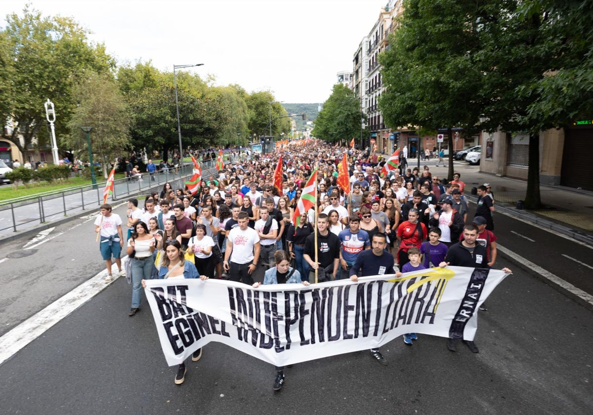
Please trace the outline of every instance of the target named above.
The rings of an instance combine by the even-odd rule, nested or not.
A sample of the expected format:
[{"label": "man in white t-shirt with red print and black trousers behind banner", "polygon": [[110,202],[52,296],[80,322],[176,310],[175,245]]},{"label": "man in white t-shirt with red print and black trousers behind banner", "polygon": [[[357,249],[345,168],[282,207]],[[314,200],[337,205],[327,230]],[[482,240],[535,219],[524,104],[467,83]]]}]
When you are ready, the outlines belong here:
[{"label": "man in white t-shirt with red print and black trousers behind banner", "polygon": [[247,226],[247,212],[239,212],[237,222],[238,226],[228,232],[227,250],[222,265],[225,271],[229,272],[232,281],[252,285],[251,274],[259,260],[260,238],[254,229]]}]

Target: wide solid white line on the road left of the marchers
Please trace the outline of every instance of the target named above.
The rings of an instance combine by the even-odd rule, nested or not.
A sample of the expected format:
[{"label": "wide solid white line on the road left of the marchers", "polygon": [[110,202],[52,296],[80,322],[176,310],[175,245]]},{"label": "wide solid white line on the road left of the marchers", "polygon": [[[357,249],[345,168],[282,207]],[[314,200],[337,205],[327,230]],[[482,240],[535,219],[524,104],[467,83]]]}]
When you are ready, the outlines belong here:
[{"label": "wide solid white line on the road left of the marchers", "polygon": [[[127,256],[122,258],[122,266],[126,260]],[[111,283],[119,278],[119,272],[117,272],[115,264],[113,264],[112,270],[115,270],[115,272],[113,272]],[[107,270],[101,271],[0,337],[0,365],[49,330],[54,324],[59,323],[72,311],[75,311],[75,309],[81,307],[85,302],[111,285],[111,283],[105,283],[106,276]]]}]

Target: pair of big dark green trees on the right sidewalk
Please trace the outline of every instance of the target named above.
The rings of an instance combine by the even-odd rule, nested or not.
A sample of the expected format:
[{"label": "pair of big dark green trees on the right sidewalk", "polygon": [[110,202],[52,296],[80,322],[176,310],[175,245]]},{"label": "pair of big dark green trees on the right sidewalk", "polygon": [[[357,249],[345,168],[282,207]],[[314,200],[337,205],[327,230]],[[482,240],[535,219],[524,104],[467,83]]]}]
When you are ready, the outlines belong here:
[{"label": "pair of big dark green trees on the right sidewalk", "polygon": [[380,56],[385,123],[448,127],[449,148],[451,127],[529,133],[525,205],[540,207],[540,132],[591,116],[592,21],[587,0],[406,0]]}]

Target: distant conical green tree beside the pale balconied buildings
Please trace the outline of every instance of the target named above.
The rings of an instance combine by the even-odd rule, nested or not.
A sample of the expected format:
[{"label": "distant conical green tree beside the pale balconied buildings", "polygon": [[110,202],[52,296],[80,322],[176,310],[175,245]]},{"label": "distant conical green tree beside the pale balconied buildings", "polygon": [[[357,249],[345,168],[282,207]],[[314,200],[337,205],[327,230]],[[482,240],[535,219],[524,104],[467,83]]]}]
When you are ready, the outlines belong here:
[{"label": "distant conical green tree beside the pale balconied buildings", "polygon": [[317,114],[313,135],[330,143],[347,145],[350,139],[360,135],[362,119],[366,116],[361,112],[360,101],[354,92],[345,85],[336,84]]}]

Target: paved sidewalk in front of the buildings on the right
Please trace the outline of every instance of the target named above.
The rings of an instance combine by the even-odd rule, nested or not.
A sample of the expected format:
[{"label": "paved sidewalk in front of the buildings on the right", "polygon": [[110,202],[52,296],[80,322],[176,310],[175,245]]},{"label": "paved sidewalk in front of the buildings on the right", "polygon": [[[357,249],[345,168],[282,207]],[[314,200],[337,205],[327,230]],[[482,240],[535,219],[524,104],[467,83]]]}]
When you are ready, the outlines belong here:
[{"label": "paved sidewalk in front of the buildings on the right", "polygon": [[[414,160],[416,161],[416,160]],[[420,161],[420,168],[428,165],[431,173],[439,178],[447,178],[448,167],[436,167],[436,162]],[[409,163],[414,168],[415,163]],[[448,164],[447,164],[448,165]],[[542,228],[552,229],[576,240],[593,245],[593,192],[564,186],[540,186],[541,202],[545,209],[519,210],[517,200],[525,199],[527,182],[514,178],[499,177],[490,173],[480,173],[480,166],[469,165],[465,161],[455,161],[454,170],[461,174],[466,183],[464,192],[470,200],[476,196],[471,188],[489,183],[496,202],[496,210],[503,210],[523,221],[533,222]],[[496,214],[496,213],[495,213]]]}]

